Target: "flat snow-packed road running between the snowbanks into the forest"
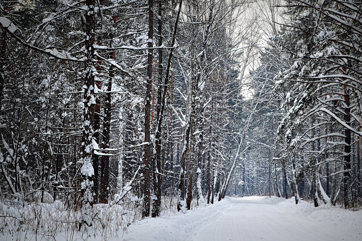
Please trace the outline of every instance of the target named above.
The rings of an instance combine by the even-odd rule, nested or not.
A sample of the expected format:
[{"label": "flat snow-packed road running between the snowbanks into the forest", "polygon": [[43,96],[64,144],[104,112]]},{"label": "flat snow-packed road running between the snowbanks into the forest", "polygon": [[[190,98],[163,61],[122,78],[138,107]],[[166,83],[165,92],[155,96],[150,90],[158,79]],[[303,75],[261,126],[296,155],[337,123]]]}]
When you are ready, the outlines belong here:
[{"label": "flat snow-packed road running between the snowbanks into the forest", "polygon": [[293,215],[276,204],[229,199],[223,215],[200,228],[193,241],[349,241],[333,223]]}]

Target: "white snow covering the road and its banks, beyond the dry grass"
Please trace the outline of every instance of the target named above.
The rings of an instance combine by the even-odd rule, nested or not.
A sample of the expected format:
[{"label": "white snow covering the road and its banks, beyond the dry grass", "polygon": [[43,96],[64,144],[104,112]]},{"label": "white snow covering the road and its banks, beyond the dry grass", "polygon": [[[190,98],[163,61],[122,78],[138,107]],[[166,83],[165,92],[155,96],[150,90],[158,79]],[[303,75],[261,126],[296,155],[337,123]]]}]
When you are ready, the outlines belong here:
[{"label": "white snow covering the road and its banks, beyond the dry grass", "polygon": [[[122,239],[121,239],[122,240]],[[294,198],[226,198],[184,215],[131,224],[123,241],[362,241],[362,211]]]}]

